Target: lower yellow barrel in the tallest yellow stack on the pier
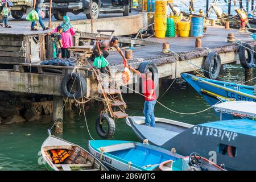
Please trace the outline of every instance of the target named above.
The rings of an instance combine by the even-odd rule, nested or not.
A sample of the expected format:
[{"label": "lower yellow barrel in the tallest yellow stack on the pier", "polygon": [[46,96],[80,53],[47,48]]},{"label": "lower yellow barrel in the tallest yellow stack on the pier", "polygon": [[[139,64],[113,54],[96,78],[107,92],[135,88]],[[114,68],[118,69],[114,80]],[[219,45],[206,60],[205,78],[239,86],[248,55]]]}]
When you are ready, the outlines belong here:
[{"label": "lower yellow barrel in the tallest yellow stack on the pier", "polygon": [[166,15],[155,15],[155,37],[164,38],[166,36],[167,18]]}]

